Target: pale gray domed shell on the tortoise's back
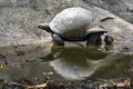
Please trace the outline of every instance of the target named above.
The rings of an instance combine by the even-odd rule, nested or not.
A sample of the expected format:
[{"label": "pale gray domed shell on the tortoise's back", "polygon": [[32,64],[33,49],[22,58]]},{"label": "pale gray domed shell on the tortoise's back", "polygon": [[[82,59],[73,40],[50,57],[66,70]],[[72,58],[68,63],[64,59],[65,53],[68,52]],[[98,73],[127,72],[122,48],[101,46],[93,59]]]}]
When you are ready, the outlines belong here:
[{"label": "pale gray domed shell on the tortoise's back", "polygon": [[93,19],[93,13],[83,8],[68,8],[49,23],[50,29],[63,37],[82,38]]}]

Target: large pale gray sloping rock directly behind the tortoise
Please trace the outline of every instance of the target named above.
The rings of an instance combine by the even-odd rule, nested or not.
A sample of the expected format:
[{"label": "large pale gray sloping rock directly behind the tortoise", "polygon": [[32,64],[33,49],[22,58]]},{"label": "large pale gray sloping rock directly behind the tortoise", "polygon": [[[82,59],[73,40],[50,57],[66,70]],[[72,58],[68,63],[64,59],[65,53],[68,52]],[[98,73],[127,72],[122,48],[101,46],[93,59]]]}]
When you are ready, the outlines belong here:
[{"label": "large pale gray sloping rock directly behind the tortoise", "polygon": [[[110,0],[101,1],[102,4],[110,4]],[[111,4],[113,6],[113,3]],[[88,0],[0,0],[0,46],[42,41],[51,43],[50,34],[38,29],[38,23],[50,22],[58,12],[70,7],[83,7],[91,10],[95,17],[95,26],[104,26],[109,33],[114,37],[115,42],[123,42],[123,38],[132,38],[133,36],[131,23],[106,10],[93,7]],[[110,6],[105,9],[115,10]],[[132,8],[129,10],[131,11]],[[114,19],[100,22],[101,19],[106,17],[113,17]]]}]

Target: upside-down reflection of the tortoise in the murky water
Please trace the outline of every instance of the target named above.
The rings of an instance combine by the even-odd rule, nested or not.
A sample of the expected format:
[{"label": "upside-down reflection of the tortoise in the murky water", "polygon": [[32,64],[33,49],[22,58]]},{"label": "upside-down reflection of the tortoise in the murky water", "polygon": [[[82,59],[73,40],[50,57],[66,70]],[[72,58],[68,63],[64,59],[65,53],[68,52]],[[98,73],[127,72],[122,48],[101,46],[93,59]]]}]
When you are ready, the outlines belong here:
[{"label": "upside-down reflection of the tortoise in the murky water", "polygon": [[98,68],[105,63],[108,53],[103,53],[96,49],[53,46],[51,53],[45,59],[52,60],[50,65],[63,78],[79,80],[92,76]]}]

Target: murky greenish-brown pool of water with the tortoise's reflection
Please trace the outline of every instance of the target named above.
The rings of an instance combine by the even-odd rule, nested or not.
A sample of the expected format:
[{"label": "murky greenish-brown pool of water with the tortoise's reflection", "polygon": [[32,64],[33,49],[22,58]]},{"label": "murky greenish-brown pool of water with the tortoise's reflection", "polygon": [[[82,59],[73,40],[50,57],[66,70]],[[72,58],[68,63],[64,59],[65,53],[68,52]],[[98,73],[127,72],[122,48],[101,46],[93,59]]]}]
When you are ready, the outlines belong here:
[{"label": "murky greenish-brown pool of water with the tortoise's reflection", "polygon": [[8,60],[8,65],[0,69],[0,79],[6,80],[43,79],[42,73],[50,71],[53,80],[111,79],[127,75],[133,61],[130,56],[83,47],[3,47],[0,53]]}]

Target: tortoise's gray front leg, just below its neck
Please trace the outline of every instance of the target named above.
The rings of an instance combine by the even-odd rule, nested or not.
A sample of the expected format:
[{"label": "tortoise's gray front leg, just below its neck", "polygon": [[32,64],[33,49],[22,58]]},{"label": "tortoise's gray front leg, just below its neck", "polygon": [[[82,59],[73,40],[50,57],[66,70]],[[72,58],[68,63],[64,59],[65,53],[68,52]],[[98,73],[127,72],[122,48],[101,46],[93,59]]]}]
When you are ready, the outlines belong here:
[{"label": "tortoise's gray front leg, just below its neck", "polygon": [[62,40],[62,38],[60,36],[58,36],[57,33],[53,33],[52,34],[52,39],[53,39],[53,42],[57,44],[57,46],[64,46],[64,41]]}]

